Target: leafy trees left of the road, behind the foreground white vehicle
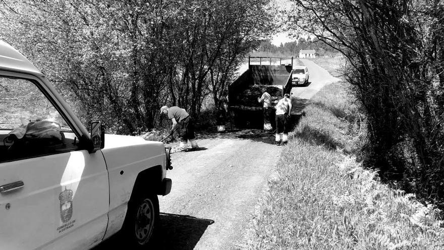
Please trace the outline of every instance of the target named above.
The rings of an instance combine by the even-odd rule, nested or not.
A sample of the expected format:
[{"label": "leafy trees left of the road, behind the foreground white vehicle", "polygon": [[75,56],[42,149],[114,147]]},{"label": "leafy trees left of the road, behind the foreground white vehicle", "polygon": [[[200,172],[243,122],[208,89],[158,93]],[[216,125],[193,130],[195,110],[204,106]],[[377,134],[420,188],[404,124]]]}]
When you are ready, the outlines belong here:
[{"label": "leafy trees left of the road, behind the foreground white vehicle", "polygon": [[81,119],[131,133],[165,104],[199,116],[269,36],[268,0],[0,1],[0,39],[56,83]]}]

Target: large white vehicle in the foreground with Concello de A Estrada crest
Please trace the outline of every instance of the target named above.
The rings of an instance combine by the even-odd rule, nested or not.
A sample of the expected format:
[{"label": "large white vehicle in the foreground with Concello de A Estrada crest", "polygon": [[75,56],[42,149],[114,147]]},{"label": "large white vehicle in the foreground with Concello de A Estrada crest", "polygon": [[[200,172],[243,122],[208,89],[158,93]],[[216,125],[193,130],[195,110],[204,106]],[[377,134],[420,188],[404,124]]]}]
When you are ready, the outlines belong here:
[{"label": "large white vehicle in the foreground with Concello de A Estrada crest", "polygon": [[[46,77],[0,41],[0,249],[90,249],[121,231],[150,242],[169,150],[90,133]],[[122,229],[122,230],[121,230]]]}]

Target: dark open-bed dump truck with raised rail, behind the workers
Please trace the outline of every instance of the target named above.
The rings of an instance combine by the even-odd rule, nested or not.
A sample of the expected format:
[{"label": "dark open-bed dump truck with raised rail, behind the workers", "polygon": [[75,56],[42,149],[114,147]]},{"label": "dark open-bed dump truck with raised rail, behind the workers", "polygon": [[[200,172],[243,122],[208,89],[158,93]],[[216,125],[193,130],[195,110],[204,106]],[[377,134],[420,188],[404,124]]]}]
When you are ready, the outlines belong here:
[{"label": "dark open-bed dump truck with raised rail, behind the workers", "polygon": [[[259,64],[252,64],[252,60],[257,59]],[[268,64],[263,65],[263,62]],[[284,94],[291,92],[292,69],[293,57],[248,57],[247,71],[228,87],[229,109],[237,128],[263,127],[262,104],[257,98],[267,91],[275,106]],[[275,123],[271,124],[274,129]]]}]

